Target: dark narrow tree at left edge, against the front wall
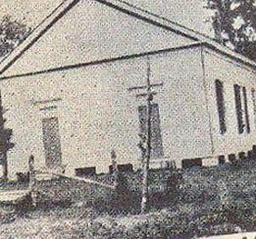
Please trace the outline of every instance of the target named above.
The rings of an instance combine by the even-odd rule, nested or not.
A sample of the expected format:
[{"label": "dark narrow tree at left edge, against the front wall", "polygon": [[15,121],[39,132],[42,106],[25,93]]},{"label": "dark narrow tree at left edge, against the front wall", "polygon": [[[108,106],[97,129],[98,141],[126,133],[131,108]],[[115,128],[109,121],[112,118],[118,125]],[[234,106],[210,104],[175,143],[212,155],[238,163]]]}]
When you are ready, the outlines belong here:
[{"label": "dark narrow tree at left edge, against the front wall", "polygon": [[11,142],[13,130],[5,127],[6,119],[4,119],[4,109],[2,106],[2,98],[0,93],[0,163],[3,167],[3,178],[8,177],[8,160],[7,152],[15,145]]}]

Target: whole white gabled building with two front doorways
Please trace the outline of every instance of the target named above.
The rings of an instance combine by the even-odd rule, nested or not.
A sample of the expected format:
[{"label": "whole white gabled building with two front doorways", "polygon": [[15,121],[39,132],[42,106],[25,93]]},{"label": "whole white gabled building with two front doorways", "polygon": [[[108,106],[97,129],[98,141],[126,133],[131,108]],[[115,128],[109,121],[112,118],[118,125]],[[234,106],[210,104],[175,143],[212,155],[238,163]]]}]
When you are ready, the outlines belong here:
[{"label": "whole white gabled building with two front doorways", "polygon": [[[139,167],[147,77],[151,167],[210,166],[256,145],[256,64],[119,0],[66,0],[0,64],[9,171]],[[241,154],[240,154],[241,155]],[[86,168],[88,170],[86,170]]]}]

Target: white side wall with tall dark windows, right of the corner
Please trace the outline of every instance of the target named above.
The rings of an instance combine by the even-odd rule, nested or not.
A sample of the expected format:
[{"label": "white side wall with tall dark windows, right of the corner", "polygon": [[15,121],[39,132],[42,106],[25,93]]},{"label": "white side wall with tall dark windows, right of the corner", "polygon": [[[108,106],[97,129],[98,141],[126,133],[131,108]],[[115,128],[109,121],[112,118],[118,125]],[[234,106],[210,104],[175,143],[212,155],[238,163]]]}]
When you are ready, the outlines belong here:
[{"label": "white side wall with tall dark windows, right of the corner", "polygon": [[[251,150],[252,145],[256,142],[255,113],[251,94],[251,89],[256,89],[255,72],[210,49],[204,50],[203,59],[209,111],[211,113],[214,156],[237,155],[239,152]],[[227,132],[223,135],[220,133],[219,125],[215,88],[216,79],[221,80],[224,85]],[[244,86],[247,91],[248,115],[251,128],[249,134],[247,132],[238,133],[233,84]],[[242,108],[244,111],[243,103]]]}]

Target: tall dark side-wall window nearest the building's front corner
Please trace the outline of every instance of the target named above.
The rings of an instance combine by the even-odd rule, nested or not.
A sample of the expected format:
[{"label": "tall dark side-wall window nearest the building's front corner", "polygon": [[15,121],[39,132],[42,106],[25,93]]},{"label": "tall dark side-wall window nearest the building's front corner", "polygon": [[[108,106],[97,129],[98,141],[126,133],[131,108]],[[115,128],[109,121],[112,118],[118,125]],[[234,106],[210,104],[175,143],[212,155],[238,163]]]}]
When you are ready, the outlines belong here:
[{"label": "tall dark side-wall window nearest the building's front corner", "polygon": [[219,113],[219,124],[220,124],[220,132],[224,134],[227,132],[226,126],[226,117],[225,117],[225,102],[224,102],[224,88],[223,82],[217,79],[215,81],[216,86],[216,99],[217,99],[217,106],[218,106],[218,113]]}]

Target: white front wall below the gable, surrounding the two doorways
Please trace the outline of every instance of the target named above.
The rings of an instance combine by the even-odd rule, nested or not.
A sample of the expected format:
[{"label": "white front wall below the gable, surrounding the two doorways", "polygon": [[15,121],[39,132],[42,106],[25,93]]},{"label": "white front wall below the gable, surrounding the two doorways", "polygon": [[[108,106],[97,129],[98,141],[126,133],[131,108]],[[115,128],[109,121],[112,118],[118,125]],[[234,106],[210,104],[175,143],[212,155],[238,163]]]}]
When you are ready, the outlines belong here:
[{"label": "white front wall below the gable, surrounding the two doorways", "polygon": [[[150,56],[151,82],[159,104],[165,157],[162,161],[211,155],[209,118],[203,84],[200,48]],[[41,120],[59,119],[63,164],[107,171],[114,149],[118,163],[138,167],[137,107],[145,99],[147,58],[139,57],[61,72],[14,77],[1,81],[7,126],[14,129],[15,148],[9,153],[10,172],[26,170],[27,158],[45,165]],[[51,107],[57,107],[53,109]],[[48,108],[48,110],[47,110]],[[41,110],[40,110],[41,109]]]}]

